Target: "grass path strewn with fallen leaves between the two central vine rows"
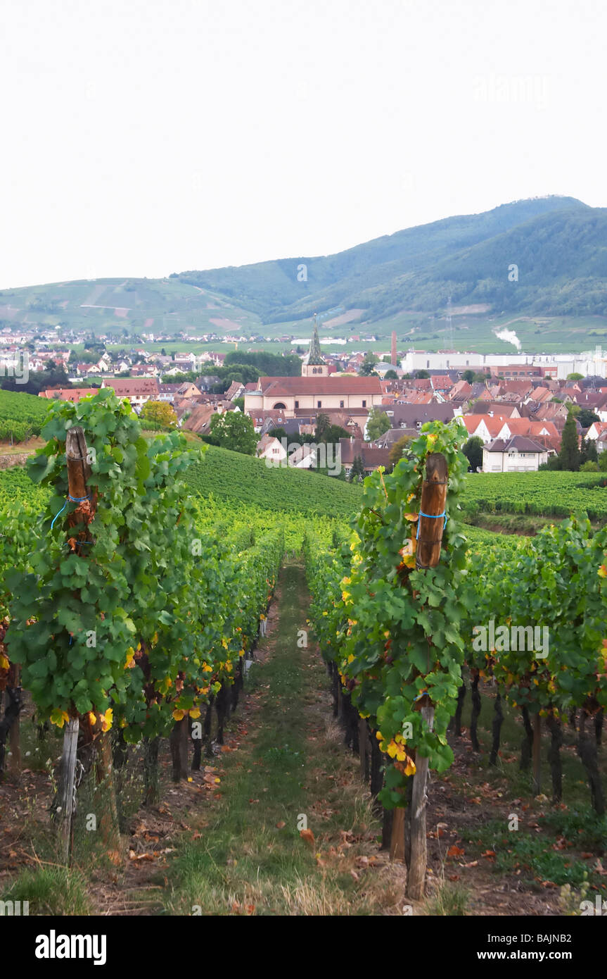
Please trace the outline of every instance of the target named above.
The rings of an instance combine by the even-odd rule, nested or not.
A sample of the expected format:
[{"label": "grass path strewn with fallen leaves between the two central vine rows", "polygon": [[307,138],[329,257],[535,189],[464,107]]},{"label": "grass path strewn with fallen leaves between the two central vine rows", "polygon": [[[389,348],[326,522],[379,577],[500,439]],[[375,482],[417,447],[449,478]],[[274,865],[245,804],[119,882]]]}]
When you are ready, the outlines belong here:
[{"label": "grass path strewn with fallen leaves between the two central vine rows", "polygon": [[[166,871],[169,914],[402,914],[404,868],[377,848],[379,823],[332,720],[309,603],[287,564],[270,629],[221,755],[221,783]],[[307,832],[306,832],[307,825]],[[304,828],[303,836],[300,830]]]}]

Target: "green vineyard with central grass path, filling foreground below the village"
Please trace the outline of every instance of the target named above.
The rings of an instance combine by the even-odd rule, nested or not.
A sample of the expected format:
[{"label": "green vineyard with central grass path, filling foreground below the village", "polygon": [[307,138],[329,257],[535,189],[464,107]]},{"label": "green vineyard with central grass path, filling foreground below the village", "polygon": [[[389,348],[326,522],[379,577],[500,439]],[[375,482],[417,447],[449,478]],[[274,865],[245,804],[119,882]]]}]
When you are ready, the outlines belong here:
[{"label": "green vineyard with central grass path, filling foreground below the village", "polygon": [[[605,891],[607,529],[587,474],[505,476],[498,497],[432,423],[352,487],[144,438],[110,391],[56,403],[41,435],[0,473],[0,819],[27,822],[23,784],[45,815],[30,850],[0,845],[0,898],[42,886],[38,847],[79,888],[64,913],[482,914],[471,892],[518,876],[541,914]],[[521,480],[545,507],[527,512],[585,513],[533,538],[459,522],[520,505]]]}]

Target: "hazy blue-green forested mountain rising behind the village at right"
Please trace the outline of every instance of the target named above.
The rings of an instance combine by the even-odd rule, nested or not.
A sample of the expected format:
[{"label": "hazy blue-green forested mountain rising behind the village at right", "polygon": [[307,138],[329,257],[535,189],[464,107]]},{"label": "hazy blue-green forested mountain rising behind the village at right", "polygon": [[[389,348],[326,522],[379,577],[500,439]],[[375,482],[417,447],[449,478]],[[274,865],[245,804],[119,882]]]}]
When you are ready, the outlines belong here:
[{"label": "hazy blue-green forested mountain rising behind the village at right", "polygon": [[[299,281],[298,266],[307,279]],[[516,271],[511,269],[516,265]],[[508,271],[510,272],[508,274]],[[264,322],[335,305],[366,319],[401,309],[488,303],[496,311],[607,312],[607,210],[569,197],[517,201],[385,235],[332,256],[183,272]]]}]

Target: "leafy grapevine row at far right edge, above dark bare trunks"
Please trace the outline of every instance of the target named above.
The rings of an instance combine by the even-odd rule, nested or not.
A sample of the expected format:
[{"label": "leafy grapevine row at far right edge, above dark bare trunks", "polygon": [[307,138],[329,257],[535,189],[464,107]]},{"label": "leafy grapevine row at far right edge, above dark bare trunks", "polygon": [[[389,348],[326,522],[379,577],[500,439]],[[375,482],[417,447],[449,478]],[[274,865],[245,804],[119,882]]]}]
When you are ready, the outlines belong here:
[{"label": "leafy grapevine row at far right edge, above dark bare trunks", "polygon": [[[588,727],[590,719],[596,719],[600,736],[607,707],[607,531],[593,533],[587,518],[573,517],[544,528],[516,548],[483,548],[470,558],[474,601],[466,662],[472,679],[473,747],[478,749],[475,725],[480,710],[475,691],[481,676],[494,676],[498,714],[501,695],[522,712],[526,730],[523,769],[530,764],[534,726],[538,749],[545,719],[551,738],[552,795],[560,801],[562,719],[579,711],[578,752],[587,772],[592,805],[602,814],[596,741],[589,736]],[[481,629],[489,629],[492,622],[494,637],[488,648]],[[473,634],[475,627],[480,627],[478,639]],[[516,648],[510,641],[514,630]],[[527,641],[519,642],[519,636]],[[530,651],[532,637],[535,648]],[[494,733],[495,762],[499,723],[494,724]],[[536,750],[538,791],[539,761]]]}]

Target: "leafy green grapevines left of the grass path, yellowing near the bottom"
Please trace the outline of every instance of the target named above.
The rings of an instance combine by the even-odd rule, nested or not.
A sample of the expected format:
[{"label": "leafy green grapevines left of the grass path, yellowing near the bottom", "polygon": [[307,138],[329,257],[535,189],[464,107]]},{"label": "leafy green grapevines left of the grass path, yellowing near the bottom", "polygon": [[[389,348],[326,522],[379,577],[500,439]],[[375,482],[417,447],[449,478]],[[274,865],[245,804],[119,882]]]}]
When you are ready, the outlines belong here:
[{"label": "leafy green grapevines left of the grass path, yellowing near the bottom", "polygon": [[[78,432],[86,459],[73,451]],[[252,543],[249,528],[237,550],[221,530],[200,531],[182,479],[200,450],[177,433],[143,439],[111,392],[58,404],[43,437],[28,463],[50,490],[36,535],[20,531],[19,517],[4,524],[2,561],[13,570],[0,662],[21,668],[40,722],[77,721],[91,738],[114,725],[124,741],[153,742],[199,718],[238,678],[276,583],[282,534]],[[74,465],[86,474],[77,494]]]}]

